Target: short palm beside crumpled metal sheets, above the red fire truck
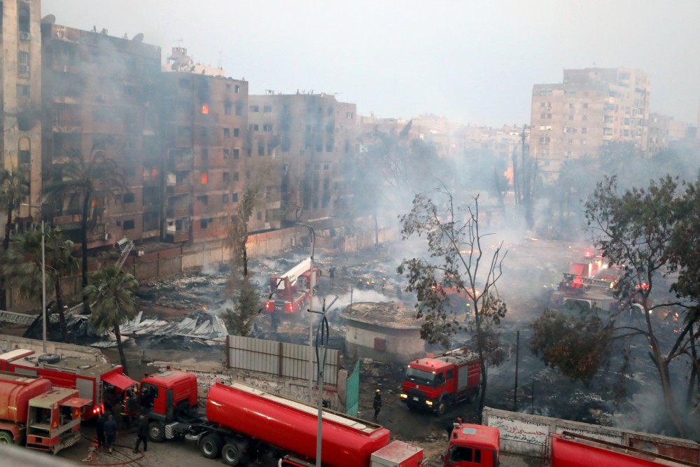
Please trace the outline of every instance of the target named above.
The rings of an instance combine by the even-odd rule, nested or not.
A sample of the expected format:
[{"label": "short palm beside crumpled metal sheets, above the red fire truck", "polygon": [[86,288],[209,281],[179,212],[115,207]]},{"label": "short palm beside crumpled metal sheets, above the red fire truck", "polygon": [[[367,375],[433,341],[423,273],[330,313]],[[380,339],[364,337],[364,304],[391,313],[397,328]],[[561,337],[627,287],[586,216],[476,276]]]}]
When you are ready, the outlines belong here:
[{"label": "short palm beside crumpled metal sheets, above the red fire truck", "polygon": [[139,286],[139,281],[115,265],[90,274],[90,282],[84,292],[91,304],[90,323],[99,332],[114,331],[119,358],[127,373],[127,359],[119,326],[136,316],[134,291]]}]

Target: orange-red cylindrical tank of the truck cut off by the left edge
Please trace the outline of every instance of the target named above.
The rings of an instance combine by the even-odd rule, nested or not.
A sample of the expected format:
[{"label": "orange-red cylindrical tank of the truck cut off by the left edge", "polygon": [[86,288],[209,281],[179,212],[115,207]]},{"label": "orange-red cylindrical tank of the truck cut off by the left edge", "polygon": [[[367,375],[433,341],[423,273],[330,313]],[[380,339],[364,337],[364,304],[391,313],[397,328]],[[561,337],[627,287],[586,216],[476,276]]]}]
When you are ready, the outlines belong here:
[{"label": "orange-red cylindrical tank of the truck cut off by the left edge", "polygon": [[29,399],[50,390],[48,379],[0,373],[0,420],[27,423]]}]

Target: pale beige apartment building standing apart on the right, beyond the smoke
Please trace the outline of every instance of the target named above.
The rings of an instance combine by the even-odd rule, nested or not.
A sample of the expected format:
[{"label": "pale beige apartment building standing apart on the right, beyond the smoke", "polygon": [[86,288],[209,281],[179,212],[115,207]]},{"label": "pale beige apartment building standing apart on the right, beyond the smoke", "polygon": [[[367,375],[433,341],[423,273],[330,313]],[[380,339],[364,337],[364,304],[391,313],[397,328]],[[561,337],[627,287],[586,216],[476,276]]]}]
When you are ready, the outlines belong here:
[{"label": "pale beige apartment building standing apart on the right, beyond the smoke", "polygon": [[565,69],[563,83],[533,86],[530,155],[556,179],[570,158],[594,156],[605,141],[647,152],[650,79],[636,69]]}]

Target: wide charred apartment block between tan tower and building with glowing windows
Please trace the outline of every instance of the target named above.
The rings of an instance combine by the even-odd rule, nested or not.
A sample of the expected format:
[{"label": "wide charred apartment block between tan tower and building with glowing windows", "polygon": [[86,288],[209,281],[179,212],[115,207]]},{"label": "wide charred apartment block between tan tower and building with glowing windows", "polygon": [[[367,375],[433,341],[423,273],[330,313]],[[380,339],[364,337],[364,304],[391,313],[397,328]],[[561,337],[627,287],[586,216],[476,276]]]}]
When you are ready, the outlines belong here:
[{"label": "wide charred apartment block between tan tower and building with glowing windows", "polygon": [[[70,153],[123,169],[125,193],[94,197],[88,247],[160,237],[162,164],[155,106],[160,48],[46,20],[42,44],[43,183],[62,179]],[[77,200],[55,205],[52,222],[78,239]]]}]

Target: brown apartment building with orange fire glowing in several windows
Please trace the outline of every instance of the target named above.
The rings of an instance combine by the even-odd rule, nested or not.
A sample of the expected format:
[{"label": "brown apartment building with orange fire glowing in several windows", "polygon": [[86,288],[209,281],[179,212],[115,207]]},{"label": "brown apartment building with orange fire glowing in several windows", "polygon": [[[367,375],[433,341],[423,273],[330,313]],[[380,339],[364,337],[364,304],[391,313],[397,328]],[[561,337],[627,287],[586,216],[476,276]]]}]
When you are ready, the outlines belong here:
[{"label": "brown apartment building with orange fire glowing in several windows", "polygon": [[165,151],[162,240],[223,239],[250,165],[248,83],[189,71],[163,73],[159,111]]}]

